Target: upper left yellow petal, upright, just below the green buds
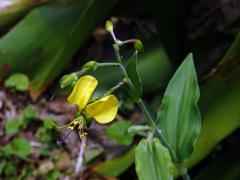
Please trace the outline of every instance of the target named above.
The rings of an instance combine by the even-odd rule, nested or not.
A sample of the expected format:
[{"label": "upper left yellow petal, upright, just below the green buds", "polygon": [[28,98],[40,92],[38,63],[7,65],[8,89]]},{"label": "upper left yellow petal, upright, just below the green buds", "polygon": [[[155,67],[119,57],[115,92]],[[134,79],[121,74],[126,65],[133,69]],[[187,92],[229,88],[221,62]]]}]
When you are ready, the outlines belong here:
[{"label": "upper left yellow petal, upright, just below the green buds", "polygon": [[81,77],[75,84],[72,93],[68,96],[68,102],[77,104],[81,111],[86,107],[97,84],[97,80],[92,76]]}]

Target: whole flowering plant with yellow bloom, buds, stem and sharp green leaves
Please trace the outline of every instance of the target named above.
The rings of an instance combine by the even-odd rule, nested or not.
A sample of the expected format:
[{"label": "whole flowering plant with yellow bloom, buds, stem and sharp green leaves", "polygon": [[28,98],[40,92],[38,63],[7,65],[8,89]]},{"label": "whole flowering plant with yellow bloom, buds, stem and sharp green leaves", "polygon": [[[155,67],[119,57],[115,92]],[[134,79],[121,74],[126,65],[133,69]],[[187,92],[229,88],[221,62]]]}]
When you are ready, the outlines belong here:
[{"label": "whole flowering plant with yellow bloom, buds, stem and sharp green leaves", "polygon": [[[144,113],[149,125],[147,128],[146,126],[133,126],[129,130],[130,132],[140,132],[143,135],[147,135],[147,139],[140,141],[135,152],[136,170],[139,179],[147,180],[152,175],[154,175],[156,180],[173,179],[173,165],[175,165],[183,179],[190,179],[185,163],[193,152],[194,144],[201,129],[200,112],[197,107],[199,87],[192,54],[185,58],[170,80],[162,100],[162,105],[155,118],[141,98],[142,82],[138,73],[138,52],[143,50],[141,41],[138,39],[126,41],[117,39],[111,21],[106,22],[106,30],[113,37],[113,48],[117,63],[90,61],[80,71],[74,73],[74,78],[69,78],[73,75],[71,73],[63,76],[60,81],[62,88],[75,84],[68,101],[77,104],[79,107],[78,118],[80,119],[78,120],[77,118],[72,121],[67,125],[67,128],[73,130],[78,127],[81,137],[85,136],[82,132],[83,126],[85,124],[89,126],[93,119],[96,119],[99,123],[112,121],[116,115],[116,101],[114,100],[115,98],[110,100],[109,97],[112,96],[111,94],[114,91],[124,86],[129,96]],[[129,43],[134,45],[135,52],[127,65],[125,65],[120,55],[120,48]],[[107,91],[102,98],[96,97],[91,102],[88,102],[97,85],[97,81],[92,76],[81,76],[88,71],[106,66],[118,67],[122,80]],[[78,78],[80,79],[78,80]],[[126,135],[124,137],[124,132],[126,132],[127,126],[130,126],[130,124],[123,122],[113,123],[107,128],[107,135],[120,144],[128,145],[132,141],[130,138],[132,134],[125,141]]]}]

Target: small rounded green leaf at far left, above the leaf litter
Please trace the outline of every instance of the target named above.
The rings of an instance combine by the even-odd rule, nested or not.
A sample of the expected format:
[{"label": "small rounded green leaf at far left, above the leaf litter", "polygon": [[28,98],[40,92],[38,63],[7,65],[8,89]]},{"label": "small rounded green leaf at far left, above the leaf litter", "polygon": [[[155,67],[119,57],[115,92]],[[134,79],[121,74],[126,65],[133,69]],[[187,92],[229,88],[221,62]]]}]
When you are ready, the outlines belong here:
[{"label": "small rounded green leaf at far left, above the leaf litter", "polygon": [[4,82],[4,86],[15,88],[18,91],[27,91],[29,79],[25,74],[15,73]]}]

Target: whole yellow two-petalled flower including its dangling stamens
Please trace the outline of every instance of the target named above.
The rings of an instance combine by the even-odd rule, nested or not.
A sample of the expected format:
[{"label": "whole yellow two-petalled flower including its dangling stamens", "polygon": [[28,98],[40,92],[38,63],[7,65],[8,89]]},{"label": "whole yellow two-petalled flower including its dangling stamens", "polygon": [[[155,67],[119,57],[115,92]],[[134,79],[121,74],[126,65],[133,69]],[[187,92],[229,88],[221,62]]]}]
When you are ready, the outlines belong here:
[{"label": "whole yellow two-petalled flower including its dangling stamens", "polygon": [[76,127],[78,127],[80,139],[83,140],[83,137],[87,135],[84,132],[85,118],[94,118],[101,124],[114,120],[118,110],[118,99],[114,95],[105,96],[89,103],[97,84],[97,80],[88,75],[81,77],[75,84],[72,93],[68,96],[68,101],[78,105],[80,116],[65,126],[58,126],[52,122],[57,128],[68,128],[69,130],[62,140],[58,141],[58,144],[62,144]]}]

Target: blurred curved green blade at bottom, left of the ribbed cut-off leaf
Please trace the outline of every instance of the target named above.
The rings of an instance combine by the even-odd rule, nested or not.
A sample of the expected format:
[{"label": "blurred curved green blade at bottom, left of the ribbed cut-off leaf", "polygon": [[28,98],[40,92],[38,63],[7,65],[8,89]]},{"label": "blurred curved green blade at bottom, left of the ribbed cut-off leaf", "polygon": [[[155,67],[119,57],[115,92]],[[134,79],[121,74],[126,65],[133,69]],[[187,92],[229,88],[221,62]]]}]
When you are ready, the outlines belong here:
[{"label": "blurred curved green blade at bottom, left of the ribbed cut-off leaf", "polygon": [[135,147],[126,154],[96,165],[93,170],[106,176],[119,176],[134,162]]}]

